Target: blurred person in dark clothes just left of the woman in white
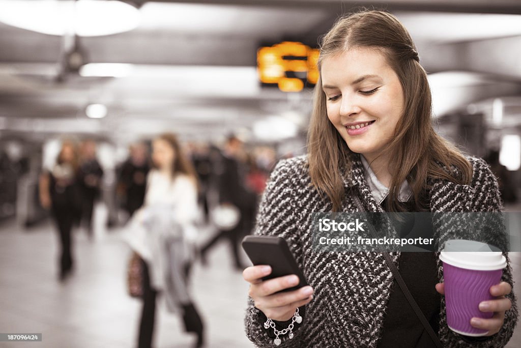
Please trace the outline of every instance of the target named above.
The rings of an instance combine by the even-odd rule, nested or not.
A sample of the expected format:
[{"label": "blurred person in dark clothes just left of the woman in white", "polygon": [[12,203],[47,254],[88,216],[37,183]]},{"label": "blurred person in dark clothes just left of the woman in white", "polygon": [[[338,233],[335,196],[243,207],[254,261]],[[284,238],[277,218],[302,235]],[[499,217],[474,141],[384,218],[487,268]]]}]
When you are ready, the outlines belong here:
[{"label": "blurred person in dark clothes just left of the woman in white", "polygon": [[130,157],[121,166],[118,178],[118,195],[129,216],[145,201],[146,176],[149,170],[147,146],[144,143],[131,145]]}]

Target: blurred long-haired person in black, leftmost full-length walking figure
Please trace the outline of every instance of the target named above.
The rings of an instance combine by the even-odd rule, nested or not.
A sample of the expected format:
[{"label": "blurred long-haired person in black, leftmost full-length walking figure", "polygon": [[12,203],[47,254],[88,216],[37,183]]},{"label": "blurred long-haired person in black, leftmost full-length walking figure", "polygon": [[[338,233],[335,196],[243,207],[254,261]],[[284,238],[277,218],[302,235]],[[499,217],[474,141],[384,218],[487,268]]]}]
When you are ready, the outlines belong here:
[{"label": "blurred long-haired person in black, leftmost full-length walking figure", "polygon": [[40,203],[51,209],[59,232],[59,280],[65,280],[73,268],[72,224],[81,214],[81,188],[76,146],[65,141],[61,145],[56,165],[40,176]]}]

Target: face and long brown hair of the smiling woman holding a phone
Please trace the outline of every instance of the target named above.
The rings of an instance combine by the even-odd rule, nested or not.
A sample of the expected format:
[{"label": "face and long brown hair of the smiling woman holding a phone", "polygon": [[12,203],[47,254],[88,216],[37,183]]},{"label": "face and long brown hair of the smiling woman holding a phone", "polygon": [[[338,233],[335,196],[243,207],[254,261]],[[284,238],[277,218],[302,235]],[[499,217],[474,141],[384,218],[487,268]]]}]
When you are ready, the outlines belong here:
[{"label": "face and long brown hair of the smiling woman holding a phone", "polygon": [[386,201],[387,210],[403,211],[396,197],[405,180],[418,211],[429,210],[428,176],[470,183],[469,161],[432,128],[427,73],[398,19],[359,14],[337,22],[322,41],[318,66],[321,88],[315,89],[309,126],[309,172],[333,210],[344,194],[340,170],[349,171],[353,153],[363,154],[389,188],[393,199]]}]

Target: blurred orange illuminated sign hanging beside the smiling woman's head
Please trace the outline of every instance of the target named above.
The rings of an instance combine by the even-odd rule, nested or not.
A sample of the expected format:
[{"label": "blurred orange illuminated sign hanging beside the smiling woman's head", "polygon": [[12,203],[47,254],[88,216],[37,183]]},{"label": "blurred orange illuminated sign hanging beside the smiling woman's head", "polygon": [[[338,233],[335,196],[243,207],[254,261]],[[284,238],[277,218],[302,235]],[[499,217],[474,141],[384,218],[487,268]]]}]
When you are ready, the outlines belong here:
[{"label": "blurred orange illuminated sign hanging beside the smiling woman's head", "polygon": [[263,84],[278,85],[284,92],[299,92],[304,83],[318,81],[319,51],[301,42],[284,41],[257,50],[257,71]]}]

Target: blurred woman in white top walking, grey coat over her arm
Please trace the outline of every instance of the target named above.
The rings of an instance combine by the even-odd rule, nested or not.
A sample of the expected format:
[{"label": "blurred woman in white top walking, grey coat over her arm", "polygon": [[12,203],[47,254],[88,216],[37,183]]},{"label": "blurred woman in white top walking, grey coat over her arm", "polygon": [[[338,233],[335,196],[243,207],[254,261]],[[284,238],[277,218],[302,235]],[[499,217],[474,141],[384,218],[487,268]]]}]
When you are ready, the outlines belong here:
[{"label": "blurred woman in white top walking, grey coat over her arm", "polygon": [[188,292],[198,213],[195,171],[174,134],[160,135],[152,147],[153,169],[147,176],[145,202],[131,220],[144,228],[127,240],[142,257],[138,347],[152,346],[158,293],[164,295],[170,312],[182,313],[185,331],[195,332],[195,346],[201,347],[203,322]]}]

